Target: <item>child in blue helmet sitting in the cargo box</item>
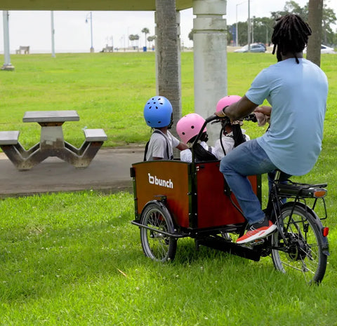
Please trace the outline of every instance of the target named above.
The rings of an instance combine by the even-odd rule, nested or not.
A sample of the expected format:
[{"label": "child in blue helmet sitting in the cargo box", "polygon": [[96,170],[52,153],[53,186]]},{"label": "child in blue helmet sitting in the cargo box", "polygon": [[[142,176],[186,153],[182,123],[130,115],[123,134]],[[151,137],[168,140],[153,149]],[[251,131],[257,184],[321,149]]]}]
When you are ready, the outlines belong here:
[{"label": "child in blue helmet sitting in the cargo box", "polygon": [[173,109],[164,96],[154,96],[147,100],[144,118],[147,125],[154,128],[150,141],[145,147],[144,161],[172,160],[173,148],[183,150],[187,145],[174,137],[169,129],[173,124]]}]

